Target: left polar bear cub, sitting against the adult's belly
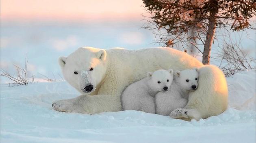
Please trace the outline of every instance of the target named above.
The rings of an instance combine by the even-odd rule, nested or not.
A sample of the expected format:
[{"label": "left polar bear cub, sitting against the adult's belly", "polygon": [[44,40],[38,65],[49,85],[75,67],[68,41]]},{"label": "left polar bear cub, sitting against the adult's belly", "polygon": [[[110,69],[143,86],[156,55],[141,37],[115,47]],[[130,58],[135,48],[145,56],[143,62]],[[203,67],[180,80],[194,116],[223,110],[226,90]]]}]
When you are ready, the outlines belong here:
[{"label": "left polar bear cub, sitting against the adult's belly", "polygon": [[173,70],[148,72],[147,77],[128,86],[121,95],[124,110],[155,113],[155,95],[167,92],[173,81]]}]

